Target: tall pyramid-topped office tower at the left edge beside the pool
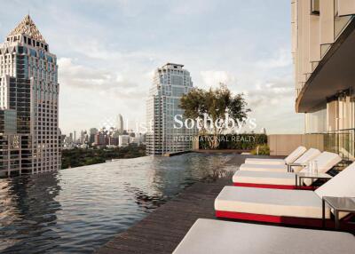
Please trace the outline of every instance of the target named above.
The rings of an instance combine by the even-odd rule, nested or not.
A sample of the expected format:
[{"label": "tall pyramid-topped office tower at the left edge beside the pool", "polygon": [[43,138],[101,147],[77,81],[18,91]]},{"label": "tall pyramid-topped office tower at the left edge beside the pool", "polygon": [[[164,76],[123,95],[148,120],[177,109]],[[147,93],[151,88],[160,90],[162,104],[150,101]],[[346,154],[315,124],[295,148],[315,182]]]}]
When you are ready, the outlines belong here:
[{"label": "tall pyramid-topped office tower at the left edge beside the pool", "polygon": [[0,174],[61,165],[57,57],[27,15],[0,44]]}]

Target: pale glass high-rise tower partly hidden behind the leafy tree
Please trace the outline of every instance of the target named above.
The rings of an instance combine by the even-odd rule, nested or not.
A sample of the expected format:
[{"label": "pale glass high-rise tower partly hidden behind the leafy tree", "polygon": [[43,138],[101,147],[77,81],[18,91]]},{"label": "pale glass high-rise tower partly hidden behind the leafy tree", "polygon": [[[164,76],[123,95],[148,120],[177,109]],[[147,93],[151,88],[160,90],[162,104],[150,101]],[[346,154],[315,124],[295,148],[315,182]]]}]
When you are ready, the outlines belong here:
[{"label": "pale glass high-rise tower partly hidden behind the leafy tree", "polygon": [[183,94],[193,88],[190,73],[183,65],[168,63],[158,68],[146,105],[146,154],[163,155],[192,149],[189,139],[196,129],[174,128],[175,115],[183,115],[179,107]]}]

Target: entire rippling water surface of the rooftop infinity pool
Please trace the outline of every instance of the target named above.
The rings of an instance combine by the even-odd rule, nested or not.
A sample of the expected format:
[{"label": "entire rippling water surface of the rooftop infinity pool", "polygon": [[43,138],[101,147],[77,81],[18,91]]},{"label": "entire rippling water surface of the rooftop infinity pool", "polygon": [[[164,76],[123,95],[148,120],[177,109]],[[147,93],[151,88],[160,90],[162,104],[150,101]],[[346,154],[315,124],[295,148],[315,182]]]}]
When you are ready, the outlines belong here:
[{"label": "entire rippling water surface of the rooftop infinity pool", "polygon": [[90,253],[182,188],[225,174],[229,159],[141,157],[0,179],[0,251]]}]

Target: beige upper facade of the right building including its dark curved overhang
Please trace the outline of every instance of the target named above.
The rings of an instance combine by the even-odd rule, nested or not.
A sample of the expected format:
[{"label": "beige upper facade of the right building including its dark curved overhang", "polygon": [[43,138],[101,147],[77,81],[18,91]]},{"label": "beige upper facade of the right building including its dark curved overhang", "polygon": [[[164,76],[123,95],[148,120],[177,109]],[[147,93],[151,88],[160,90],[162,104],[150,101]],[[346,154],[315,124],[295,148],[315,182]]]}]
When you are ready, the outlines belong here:
[{"label": "beige upper facade of the right building including its dark curved overhang", "polygon": [[319,6],[313,10],[306,2],[292,3],[297,113],[325,107],[328,98],[351,88],[355,78],[351,68],[355,60],[355,4],[312,0]]}]

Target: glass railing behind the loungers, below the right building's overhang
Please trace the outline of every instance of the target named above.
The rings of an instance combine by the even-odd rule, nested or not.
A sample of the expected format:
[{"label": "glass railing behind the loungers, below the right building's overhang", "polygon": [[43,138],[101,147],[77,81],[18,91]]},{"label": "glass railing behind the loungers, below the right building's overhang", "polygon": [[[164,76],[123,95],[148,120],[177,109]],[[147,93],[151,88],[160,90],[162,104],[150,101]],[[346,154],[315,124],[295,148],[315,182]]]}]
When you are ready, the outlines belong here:
[{"label": "glass railing behind the loungers, below the right building's overhang", "polygon": [[345,161],[355,161],[355,129],[305,134],[304,145],[336,153]]}]

